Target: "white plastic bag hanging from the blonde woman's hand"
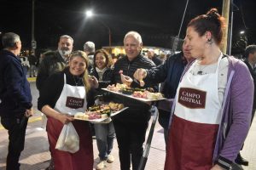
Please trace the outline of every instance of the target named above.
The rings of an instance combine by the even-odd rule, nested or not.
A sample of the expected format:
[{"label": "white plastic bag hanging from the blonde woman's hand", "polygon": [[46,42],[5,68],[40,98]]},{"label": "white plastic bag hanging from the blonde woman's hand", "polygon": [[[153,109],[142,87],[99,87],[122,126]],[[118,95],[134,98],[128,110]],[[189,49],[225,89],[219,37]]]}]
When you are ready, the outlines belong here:
[{"label": "white plastic bag hanging from the blonde woman's hand", "polygon": [[72,122],[62,127],[55,149],[68,151],[70,153],[75,153],[79,150],[79,134],[73,127]]}]

